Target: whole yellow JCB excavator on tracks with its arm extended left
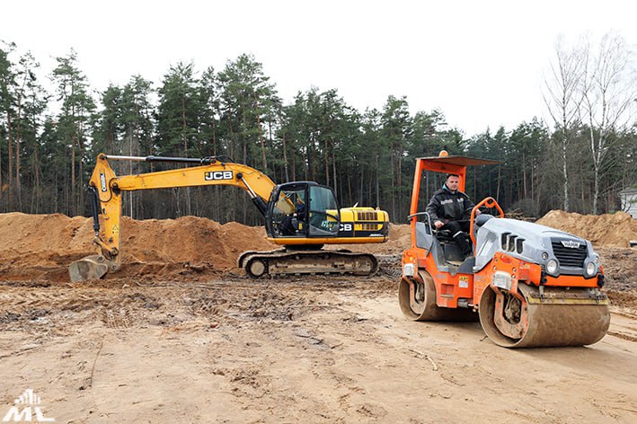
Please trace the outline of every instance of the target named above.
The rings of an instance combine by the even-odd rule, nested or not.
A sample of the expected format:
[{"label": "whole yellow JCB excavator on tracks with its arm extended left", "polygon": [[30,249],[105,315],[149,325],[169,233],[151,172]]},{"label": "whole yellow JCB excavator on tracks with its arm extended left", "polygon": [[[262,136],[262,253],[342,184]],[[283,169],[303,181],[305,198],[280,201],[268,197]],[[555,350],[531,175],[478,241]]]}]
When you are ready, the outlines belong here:
[{"label": "whole yellow JCB excavator on tracks with its arm extended left", "polygon": [[[194,163],[160,172],[117,176],[109,160]],[[97,254],[73,262],[72,281],[102,278],[121,267],[120,217],[122,191],[207,185],[231,185],[245,190],[265,216],[268,240],[283,248],[244,252],[239,266],[252,278],[275,274],[352,273],[371,275],[376,257],[345,250],[323,250],[324,244],[384,243],[389,216],[374,208],[341,208],[330,187],[312,181],[277,185],[250,166],[226,157],[184,158],[100,154],[89,181]],[[102,224],[100,223],[102,221]]]}]

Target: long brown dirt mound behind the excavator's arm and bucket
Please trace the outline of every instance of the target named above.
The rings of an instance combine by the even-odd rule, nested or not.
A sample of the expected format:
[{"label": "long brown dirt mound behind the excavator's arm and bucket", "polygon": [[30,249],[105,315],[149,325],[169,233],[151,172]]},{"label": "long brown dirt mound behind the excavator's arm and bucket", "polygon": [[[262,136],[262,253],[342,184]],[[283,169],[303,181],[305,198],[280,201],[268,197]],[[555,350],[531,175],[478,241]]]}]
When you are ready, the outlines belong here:
[{"label": "long brown dirt mound behind the excavator's arm and bucket", "polygon": [[[122,219],[118,278],[227,271],[246,250],[274,245],[259,227],[196,216]],[[0,279],[68,281],[68,265],[93,254],[93,220],[84,216],[0,214]]]}]

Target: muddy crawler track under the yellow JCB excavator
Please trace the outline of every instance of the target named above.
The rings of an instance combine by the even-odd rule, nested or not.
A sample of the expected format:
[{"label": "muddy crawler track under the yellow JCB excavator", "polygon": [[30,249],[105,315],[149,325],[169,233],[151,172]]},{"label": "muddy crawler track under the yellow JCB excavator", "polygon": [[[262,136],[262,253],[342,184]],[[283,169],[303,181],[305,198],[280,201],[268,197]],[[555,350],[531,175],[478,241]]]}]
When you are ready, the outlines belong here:
[{"label": "muddy crawler track under the yellow JCB excavator", "polygon": [[352,274],[371,276],[378,270],[376,257],[349,251],[247,252],[239,265],[252,278],[297,274]]}]

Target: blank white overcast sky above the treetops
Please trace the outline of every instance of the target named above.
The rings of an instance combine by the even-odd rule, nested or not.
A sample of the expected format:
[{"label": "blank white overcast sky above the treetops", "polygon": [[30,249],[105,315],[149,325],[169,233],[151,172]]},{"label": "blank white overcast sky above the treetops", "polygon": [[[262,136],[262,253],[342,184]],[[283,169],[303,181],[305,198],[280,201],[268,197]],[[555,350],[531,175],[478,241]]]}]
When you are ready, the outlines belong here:
[{"label": "blank white overcast sky above the treetops", "polygon": [[311,86],[338,89],[360,111],[407,96],[439,108],[467,136],[544,118],[544,73],[560,33],[615,30],[637,47],[633,1],[12,1],[0,40],[31,50],[48,74],[71,48],[102,91],[169,66],[223,69],[252,53],[284,102]]}]

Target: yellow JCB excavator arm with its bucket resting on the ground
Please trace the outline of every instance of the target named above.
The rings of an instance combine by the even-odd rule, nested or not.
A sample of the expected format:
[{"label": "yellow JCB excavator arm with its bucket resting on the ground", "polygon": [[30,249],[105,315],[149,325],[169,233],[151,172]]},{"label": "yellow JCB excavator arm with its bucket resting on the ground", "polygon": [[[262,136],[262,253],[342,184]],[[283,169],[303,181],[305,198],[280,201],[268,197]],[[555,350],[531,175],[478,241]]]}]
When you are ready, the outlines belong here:
[{"label": "yellow JCB excavator arm with its bucket resting on the ground", "polygon": [[[199,166],[117,176],[109,164],[109,159],[137,162],[197,163]],[[98,155],[93,175],[89,181],[89,190],[93,196],[93,230],[95,231],[93,243],[97,246],[97,254],[73,262],[69,268],[71,279],[78,281],[101,278],[107,272],[120,268],[119,233],[122,191],[229,185],[246,191],[261,214],[265,215],[270,193],[276,184],[267,175],[250,166],[225,162],[222,159],[217,157],[196,159]],[[278,206],[289,211],[294,210],[294,204],[288,199],[279,199]]]}]

